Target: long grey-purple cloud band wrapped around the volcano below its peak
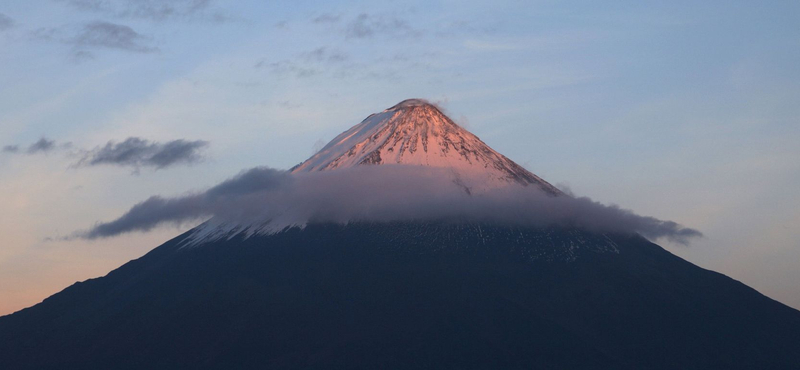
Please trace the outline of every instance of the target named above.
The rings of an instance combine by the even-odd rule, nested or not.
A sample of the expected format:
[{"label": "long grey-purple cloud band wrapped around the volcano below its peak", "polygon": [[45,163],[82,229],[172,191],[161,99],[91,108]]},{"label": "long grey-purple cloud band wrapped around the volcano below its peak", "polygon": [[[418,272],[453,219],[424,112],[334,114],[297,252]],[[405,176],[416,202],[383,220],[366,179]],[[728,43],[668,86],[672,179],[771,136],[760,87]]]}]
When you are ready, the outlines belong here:
[{"label": "long grey-purple cloud band wrapped around the volcano below its peak", "polygon": [[[474,193],[474,192],[473,192]],[[203,227],[275,232],[316,222],[461,221],[523,226],[571,226],[639,233],[687,244],[702,234],[672,221],[639,216],[589,198],[552,197],[509,186],[469,195],[446,169],[368,166],[291,174],[253,168],[205,192],[154,196],[116,220],[75,236],[95,239],[159,225],[210,219]]]}]

